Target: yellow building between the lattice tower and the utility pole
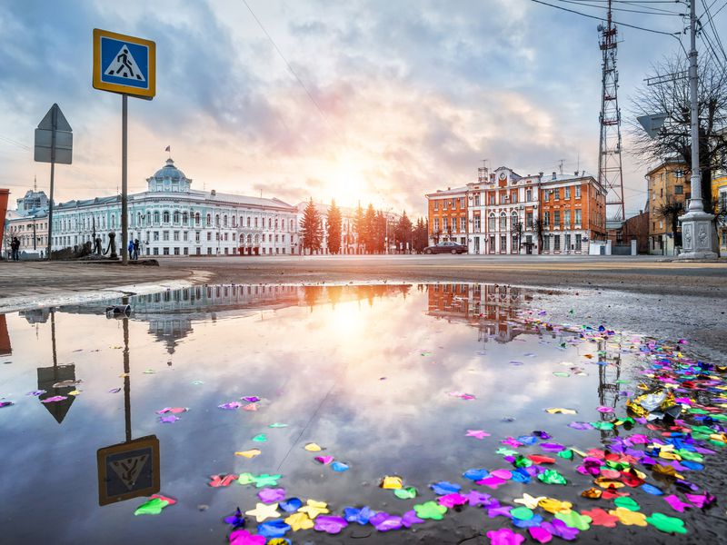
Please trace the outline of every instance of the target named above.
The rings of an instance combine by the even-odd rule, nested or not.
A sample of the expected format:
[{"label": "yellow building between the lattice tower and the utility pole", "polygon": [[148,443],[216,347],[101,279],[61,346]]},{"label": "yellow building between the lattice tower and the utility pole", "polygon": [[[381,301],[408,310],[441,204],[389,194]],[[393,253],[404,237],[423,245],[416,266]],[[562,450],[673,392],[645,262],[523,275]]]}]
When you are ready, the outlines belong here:
[{"label": "yellow building between the lattice tower and the utility pole", "polygon": [[649,253],[675,255],[676,247],[681,245],[681,228],[679,223],[674,228],[672,216],[665,215],[663,207],[686,206],[692,197],[687,166],[679,159],[667,159],[646,173],[646,181],[649,184]]}]

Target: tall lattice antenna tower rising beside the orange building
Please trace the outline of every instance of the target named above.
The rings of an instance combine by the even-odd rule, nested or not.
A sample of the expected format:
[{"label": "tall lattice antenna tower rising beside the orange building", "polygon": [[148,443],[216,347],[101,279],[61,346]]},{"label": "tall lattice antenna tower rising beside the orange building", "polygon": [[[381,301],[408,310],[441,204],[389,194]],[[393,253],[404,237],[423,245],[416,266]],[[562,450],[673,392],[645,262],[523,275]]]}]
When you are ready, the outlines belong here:
[{"label": "tall lattice antenna tower rising beside the orange building", "polygon": [[618,49],[616,25],[612,21],[612,0],[608,0],[606,25],[598,25],[603,54],[601,92],[601,140],[598,146],[598,181],[606,190],[606,217],[626,219],[623,207],[623,170],[621,163],[621,109],[619,108],[619,73],[616,69]]}]

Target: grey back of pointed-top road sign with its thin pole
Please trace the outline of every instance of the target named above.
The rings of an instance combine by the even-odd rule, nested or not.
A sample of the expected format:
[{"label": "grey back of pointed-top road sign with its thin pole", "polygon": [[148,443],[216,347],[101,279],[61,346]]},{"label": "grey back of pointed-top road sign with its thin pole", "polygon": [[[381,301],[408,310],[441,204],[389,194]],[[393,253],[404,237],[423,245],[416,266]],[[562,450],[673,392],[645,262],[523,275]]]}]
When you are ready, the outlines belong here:
[{"label": "grey back of pointed-top road sign with its thin pole", "polygon": [[55,163],[71,164],[73,161],[74,134],[58,104],[53,104],[35,129],[35,161],[51,163],[51,190],[48,203],[48,246],[46,257],[51,259],[53,242],[53,190]]}]

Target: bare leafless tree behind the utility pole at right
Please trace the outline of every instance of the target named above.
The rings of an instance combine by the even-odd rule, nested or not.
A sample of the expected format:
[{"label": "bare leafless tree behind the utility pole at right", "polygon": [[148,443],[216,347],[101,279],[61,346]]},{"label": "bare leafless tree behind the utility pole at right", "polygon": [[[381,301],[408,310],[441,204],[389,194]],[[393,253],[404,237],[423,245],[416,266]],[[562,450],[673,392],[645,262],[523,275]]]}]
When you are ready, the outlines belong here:
[{"label": "bare leafless tree behind the utility pole at right", "polygon": [[[670,157],[692,163],[690,132],[689,61],[682,54],[665,57],[652,66],[662,83],[642,85],[632,99],[632,154],[642,163],[663,161]],[[675,77],[664,77],[676,74]],[[712,210],[712,172],[727,166],[727,74],[712,59],[702,57],[699,66],[699,144],[702,171],[702,199],[705,210]],[[646,134],[636,116],[666,114],[661,131],[655,137]]]}]

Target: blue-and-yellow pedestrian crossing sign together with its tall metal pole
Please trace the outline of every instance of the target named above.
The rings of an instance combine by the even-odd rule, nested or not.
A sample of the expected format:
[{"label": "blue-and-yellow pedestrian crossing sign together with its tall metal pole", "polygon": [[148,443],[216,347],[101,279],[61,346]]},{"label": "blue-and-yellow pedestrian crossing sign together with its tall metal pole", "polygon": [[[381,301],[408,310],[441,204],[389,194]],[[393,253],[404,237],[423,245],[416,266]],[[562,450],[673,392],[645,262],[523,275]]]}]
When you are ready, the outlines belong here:
[{"label": "blue-and-yellow pedestrian crossing sign together with its tall metal pole", "polygon": [[134,36],[94,29],[94,87],[121,94],[121,263],[129,263],[128,96],[156,94],[156,44]]}]

